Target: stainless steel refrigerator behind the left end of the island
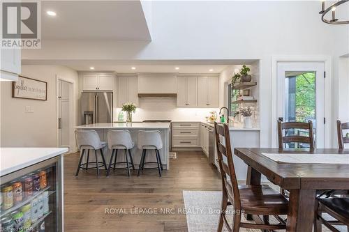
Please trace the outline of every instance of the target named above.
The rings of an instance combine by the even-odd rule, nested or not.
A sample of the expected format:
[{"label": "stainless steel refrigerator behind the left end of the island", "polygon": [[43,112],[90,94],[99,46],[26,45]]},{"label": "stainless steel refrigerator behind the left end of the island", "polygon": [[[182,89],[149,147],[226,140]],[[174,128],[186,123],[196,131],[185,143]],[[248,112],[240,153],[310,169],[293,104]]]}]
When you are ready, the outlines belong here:
[{"label": "stainless steel refrigerator behind the left end of the island", "polygon": [[112,123],[112,92],[84,92],[80,105],[82,125]]}]

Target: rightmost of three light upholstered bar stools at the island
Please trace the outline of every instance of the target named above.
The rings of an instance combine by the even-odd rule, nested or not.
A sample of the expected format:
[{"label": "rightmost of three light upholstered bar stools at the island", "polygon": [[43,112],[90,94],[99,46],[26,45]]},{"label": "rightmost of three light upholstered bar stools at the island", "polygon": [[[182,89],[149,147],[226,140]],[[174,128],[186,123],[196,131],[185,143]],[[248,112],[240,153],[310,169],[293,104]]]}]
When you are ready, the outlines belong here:
[{"label": "rightmost of three light upholstered bar stools at the island", "polygon": [[[158,150],[163,148],[163,141],[161,139],[161,132],[158,130],[140,130],[137,137],[138,149],[142,150],[142,157],[140,158],[140,167],[138,168],[138,176],[143,169],[158,169],[158,175],[161,177],[161,170],[163,164]],[[144,162],[147,150],[155,150],[156,162]],[[144,168],[144,164],[158,164],[157,168]]]}]

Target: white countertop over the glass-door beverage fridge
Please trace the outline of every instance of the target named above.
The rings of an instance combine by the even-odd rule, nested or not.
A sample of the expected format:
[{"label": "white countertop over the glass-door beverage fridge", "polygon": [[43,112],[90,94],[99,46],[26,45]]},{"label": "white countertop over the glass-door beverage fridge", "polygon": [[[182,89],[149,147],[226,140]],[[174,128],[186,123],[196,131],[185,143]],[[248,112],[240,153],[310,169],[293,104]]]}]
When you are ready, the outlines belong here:
[{"label": "white countertop over the glass-door beverage fridge", "polygon": [[68,152],[68,148],[0,148],[0,176]]}]

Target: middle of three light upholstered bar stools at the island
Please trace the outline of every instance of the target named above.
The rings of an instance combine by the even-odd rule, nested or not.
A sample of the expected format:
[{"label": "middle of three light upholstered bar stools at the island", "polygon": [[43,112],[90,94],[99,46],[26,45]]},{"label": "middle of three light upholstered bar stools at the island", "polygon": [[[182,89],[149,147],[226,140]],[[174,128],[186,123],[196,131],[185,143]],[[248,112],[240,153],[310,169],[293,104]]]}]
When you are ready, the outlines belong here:
[{"label": "middle of three light upholstered bar stools at the island", "polygon": [[[107,176],[109,176],[110,168],[112,167],[112,158],[115,154],[114,158],[114,170],[117,169],[117,164],[126,164],[126,168],[118,168],[118,169],[127,169],[128,176],[131,176],[130,173],[130,164],[133,170],[135,170],[135,165],[133,164],[131,149],[135,146],[131,139],[131,134],[128,130],[108,130],[107,132],[107,142],[108,148],[112,150],[112,156],[109,160],[109,167],[107,170]],[[117,150],[125,150],[126,162],[117,162]],[[130,156],[130,161],[128,162],[127,153]]]}]

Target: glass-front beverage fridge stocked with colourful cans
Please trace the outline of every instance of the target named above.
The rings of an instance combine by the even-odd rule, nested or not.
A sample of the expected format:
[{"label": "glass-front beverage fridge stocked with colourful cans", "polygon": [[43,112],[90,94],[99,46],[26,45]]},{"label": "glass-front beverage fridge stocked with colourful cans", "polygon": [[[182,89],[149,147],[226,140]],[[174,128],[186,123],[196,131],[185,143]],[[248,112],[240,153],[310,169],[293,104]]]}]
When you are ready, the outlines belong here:
[{"label": "glass-front beverage fridge stocked with colourful cans", "polygon": [[1,176],[0,231],[63,231],[61,175],[58,156]]}]

